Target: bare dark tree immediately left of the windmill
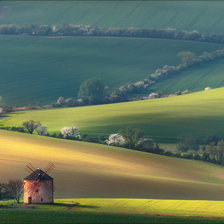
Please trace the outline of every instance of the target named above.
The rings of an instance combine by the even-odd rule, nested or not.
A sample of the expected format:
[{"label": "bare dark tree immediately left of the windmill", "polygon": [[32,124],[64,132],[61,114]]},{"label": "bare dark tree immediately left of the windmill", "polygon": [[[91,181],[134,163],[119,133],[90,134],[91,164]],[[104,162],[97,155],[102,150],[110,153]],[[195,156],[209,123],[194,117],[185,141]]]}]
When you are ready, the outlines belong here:
[{"label": "bare dark tree immediately left of the windmill", "polygon": [[8,192],[8,196],[12,199],[15,199],[17,203],[23,193],[23,181],[22,180],[9,180],[7,184],[5,184],[5,189]]}]

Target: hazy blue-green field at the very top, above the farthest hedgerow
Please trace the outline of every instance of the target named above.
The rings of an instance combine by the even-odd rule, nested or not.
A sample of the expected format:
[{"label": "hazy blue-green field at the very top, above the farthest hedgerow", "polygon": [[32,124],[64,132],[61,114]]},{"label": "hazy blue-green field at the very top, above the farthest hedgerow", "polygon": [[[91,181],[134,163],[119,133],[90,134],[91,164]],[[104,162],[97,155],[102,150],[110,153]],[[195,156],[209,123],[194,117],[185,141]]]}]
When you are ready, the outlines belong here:
[{"label": "hazy blue-green field at the very top, above the farthest hedgerow", "polygon": [[0,3],[1,24],[63,22],[100,27],[173,27],[223,33],[221,1],[24,1]]}]

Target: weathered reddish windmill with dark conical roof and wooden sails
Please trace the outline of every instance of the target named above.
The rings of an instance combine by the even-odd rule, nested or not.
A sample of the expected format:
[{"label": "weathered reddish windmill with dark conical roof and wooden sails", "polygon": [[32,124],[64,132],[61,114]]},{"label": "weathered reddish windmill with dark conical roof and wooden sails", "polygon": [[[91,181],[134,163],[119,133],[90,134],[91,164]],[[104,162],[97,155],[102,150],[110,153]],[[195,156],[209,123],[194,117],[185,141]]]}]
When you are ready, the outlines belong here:
[{"label": "weathered reddish windmill with dark conical roof and wooden sails", "polygon": [[53,203],[54,179],[48,175],[55,165],[49,163],[43,170],[34,168],[30,163],[25,169],[30,173],[24,178],[24,203]]}]

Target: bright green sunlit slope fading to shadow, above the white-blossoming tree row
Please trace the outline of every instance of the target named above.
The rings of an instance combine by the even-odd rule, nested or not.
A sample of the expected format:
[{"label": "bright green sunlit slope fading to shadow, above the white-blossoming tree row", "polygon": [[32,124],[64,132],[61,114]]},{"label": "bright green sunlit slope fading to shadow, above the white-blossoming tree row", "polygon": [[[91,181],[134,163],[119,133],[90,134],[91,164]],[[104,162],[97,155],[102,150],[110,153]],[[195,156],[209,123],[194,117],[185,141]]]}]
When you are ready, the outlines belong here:
[{"label": "bright green sunlit slope fading to shadow, above the white-blossoming tree row", "polygon": [[146,135],[170,142],[182,134],[207,137],[223,130],[224,88],[188,95],[76,108],[10,113],[2,117],[6,126],[21,126],[29,119],[39,120],[49,131],[77,125],[82,133],[110,134],[121,128],[137,127]]}]

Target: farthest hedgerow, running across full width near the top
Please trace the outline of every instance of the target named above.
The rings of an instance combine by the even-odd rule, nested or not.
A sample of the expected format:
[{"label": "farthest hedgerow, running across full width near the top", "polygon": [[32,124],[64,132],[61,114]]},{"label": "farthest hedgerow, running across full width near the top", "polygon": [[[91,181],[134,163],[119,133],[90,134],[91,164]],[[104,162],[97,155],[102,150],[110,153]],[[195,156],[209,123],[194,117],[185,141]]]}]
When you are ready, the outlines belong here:
[{"label": "farthest hedgerow, running across full width near the top", "polygon": [[201,34],[197,30],[183,31],[173,28],[98,28],[90,25],[73,25],[64,23],[61,27],[54,25],[1,25],[0,34],[28,34],[34,36],[115,36],[163,38],[175,40],[192,40],[224,43],[222,34]]}]

